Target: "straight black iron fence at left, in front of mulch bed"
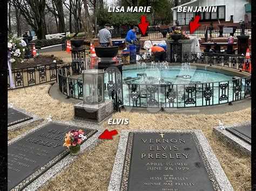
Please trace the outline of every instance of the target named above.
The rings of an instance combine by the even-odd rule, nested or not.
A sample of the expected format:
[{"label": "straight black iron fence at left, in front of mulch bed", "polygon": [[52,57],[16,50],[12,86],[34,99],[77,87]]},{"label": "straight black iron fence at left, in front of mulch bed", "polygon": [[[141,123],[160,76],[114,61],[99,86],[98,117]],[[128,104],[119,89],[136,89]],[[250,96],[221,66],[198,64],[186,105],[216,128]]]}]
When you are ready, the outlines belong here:
[{"label": "straight black iron fence at left, in front of mulch bed", "polygon": [[8,70],[8,90],[11,89],[10,77],[12,77],[12,81],[15,83],[15,87],[12,89],[34,86],[47,82],[57,82],[56,63],[49,63],[35,67],[12,69],[11,73],[12,76],[9,75]]}]

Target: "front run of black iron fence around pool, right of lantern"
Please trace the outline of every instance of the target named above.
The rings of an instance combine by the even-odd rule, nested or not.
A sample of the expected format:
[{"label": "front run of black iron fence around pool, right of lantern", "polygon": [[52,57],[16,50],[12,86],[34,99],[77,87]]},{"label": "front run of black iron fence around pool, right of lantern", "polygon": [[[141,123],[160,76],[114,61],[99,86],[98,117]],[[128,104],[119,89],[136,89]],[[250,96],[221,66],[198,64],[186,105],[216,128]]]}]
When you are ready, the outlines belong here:
[{"label": "front run of black iron fence around pool, right of lantern", "polygon": [[251,96],[251,77],[193,84],[123,84],[124,104],[145,108],[186,108],[218,105]]}]

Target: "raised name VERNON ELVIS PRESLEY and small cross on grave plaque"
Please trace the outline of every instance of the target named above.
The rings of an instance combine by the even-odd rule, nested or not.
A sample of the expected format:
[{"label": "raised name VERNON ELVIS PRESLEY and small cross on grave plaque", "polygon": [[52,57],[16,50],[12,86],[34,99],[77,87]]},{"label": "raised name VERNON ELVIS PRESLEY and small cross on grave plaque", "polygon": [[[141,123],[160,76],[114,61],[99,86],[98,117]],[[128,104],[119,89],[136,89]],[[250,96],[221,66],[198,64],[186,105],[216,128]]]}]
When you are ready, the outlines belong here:
[{"label": "raised name VERNON ELVIS PRESLEY and small cross on grave plaque", "polygon": [[[163,137],[163,133],[160,134]],[[185,144],[185,139],[142,139],[142,143],[146,144]],[[177,145],[161,145],[161,146],[149,146],[149,151],[166,151],[164,153],[141,153],[141,159],[188,159],[189,153],[173,153],[168,151],[179,151]]]}]

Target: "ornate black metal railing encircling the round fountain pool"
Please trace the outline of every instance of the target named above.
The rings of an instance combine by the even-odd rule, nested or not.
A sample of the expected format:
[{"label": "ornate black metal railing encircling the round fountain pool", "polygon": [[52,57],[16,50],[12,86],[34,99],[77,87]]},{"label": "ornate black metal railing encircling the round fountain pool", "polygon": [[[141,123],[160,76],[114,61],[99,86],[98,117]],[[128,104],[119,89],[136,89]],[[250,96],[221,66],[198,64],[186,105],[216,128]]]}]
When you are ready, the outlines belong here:
[{"label": "ornate black metal railing encircling the round fountain pool", "polygon": [[[250,72],[250,61],[244,56],[197,52],[184,52],[182,55],[181,62],[202,63]],[[140,53],[139,60],[149,61],[149,55]],[[86,65],[88,68],[92,67],[90,59],[87,59]],[[64,95],[83,100],[83,80],[77,75],[82,73],[86,65],[73,62],[58,69],[59,90]],[[108,83],[105,83],[105,90]],[[189,84],[123,82],[123,94],[122,103],[131,107],[186,108],[218,105],[251,96],[251,76],[227,81]]]}]

